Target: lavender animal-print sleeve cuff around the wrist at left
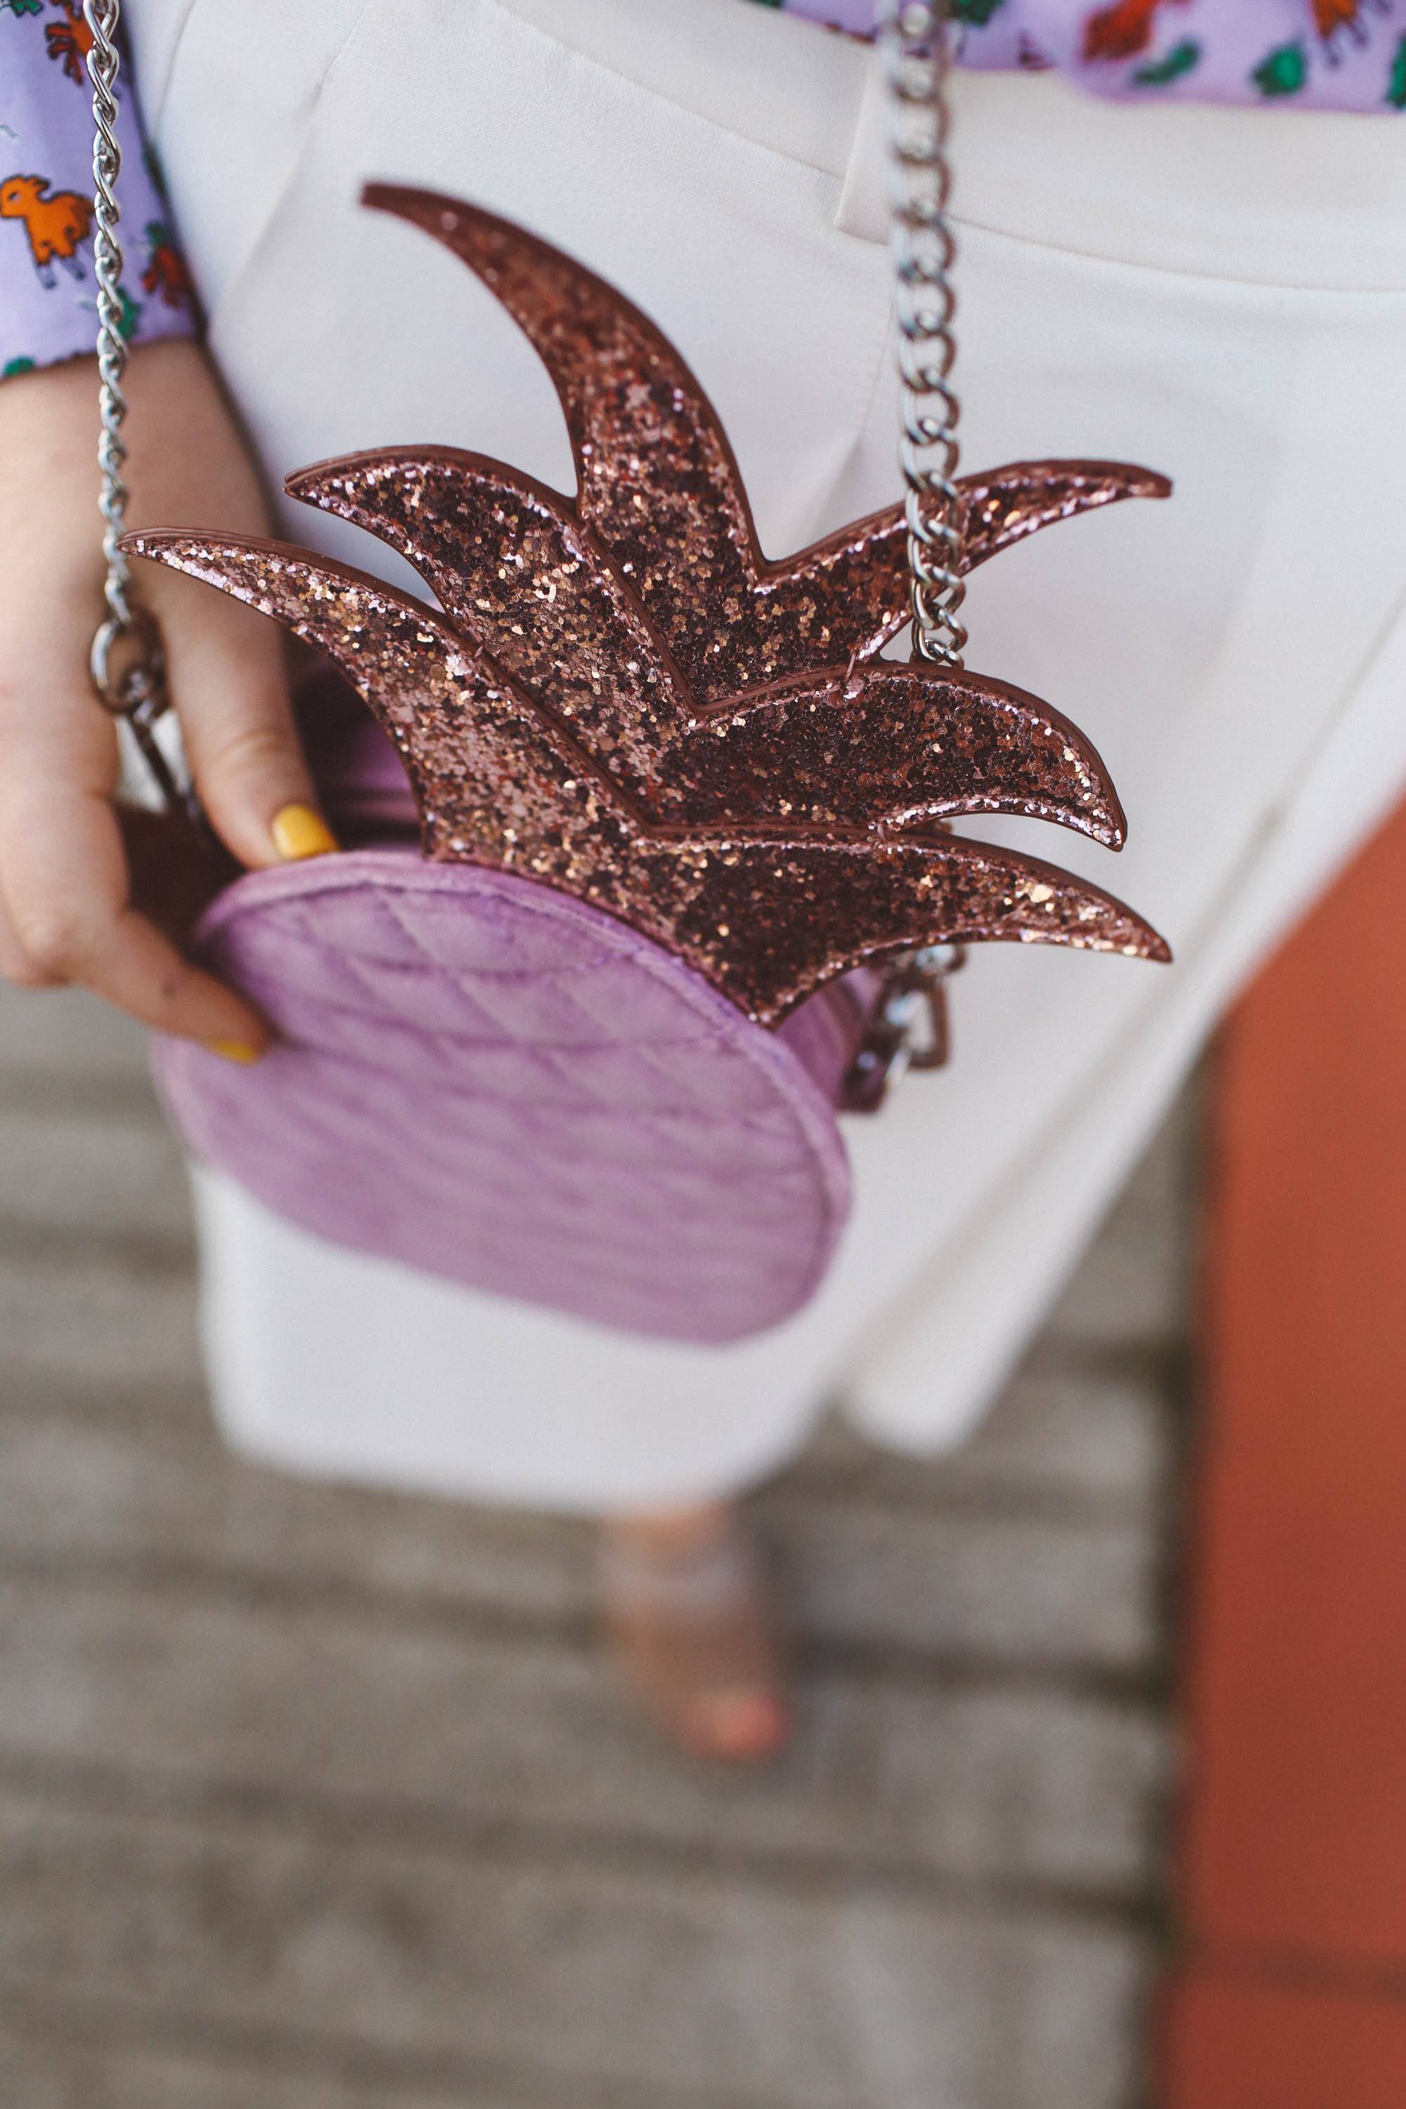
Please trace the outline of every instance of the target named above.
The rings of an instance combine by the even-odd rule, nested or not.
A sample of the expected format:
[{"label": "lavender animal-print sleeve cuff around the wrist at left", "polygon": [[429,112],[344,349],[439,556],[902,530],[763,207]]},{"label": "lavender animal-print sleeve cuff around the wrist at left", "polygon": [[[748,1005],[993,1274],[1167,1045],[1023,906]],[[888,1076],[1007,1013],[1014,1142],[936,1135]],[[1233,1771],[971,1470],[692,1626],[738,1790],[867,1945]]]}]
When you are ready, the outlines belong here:
[{"label": "lavender animal-print sleeve cuff around the wrist at left", "polygon": [[[0,378],[97,337],[91,42],[80,0],[0,0]],[[126,80],[118,103],[122,333],[143,344],[192,329],[192,291]]]}]

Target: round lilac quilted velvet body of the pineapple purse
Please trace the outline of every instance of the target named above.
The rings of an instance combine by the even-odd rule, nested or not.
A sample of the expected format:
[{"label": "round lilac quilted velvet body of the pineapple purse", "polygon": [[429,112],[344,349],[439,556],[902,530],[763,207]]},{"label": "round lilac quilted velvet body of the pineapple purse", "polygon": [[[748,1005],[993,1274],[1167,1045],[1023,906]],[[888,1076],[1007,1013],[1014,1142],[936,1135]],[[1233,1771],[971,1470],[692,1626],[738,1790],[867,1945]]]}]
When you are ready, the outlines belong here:
[{"label": "round lilac quilted velvet body of the pineapple purse", "polygon": [[242,877],[200,949],[280,1038],[257,1069],[162,1042],[162,1088],[306,1230],[706,1343],[824,1274],[850,1206],[843,987],[767,1033],[582,903],[394,848]]}]

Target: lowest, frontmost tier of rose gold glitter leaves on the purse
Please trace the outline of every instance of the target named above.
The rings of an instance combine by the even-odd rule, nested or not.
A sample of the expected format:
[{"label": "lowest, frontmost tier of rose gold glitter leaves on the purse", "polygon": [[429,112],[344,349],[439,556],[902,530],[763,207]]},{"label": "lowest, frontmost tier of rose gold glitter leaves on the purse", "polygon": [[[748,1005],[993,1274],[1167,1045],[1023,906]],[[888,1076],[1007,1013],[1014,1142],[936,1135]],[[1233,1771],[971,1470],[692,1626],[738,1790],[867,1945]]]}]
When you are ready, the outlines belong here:
[{"label": "lowest, frontmost tier of rose gold glitter leaves on the purse", "polygon": [[[337,660],[407,759],[430,856],[502,865],[609,909],[765,1025],[909,945],[1020,939],[1166,957],[1109,894],[984,844],[647,825],[565,725],[405,595],[278,542],[154,529],[126,546]],[[717,742],[710,728],[696,738]]]}]

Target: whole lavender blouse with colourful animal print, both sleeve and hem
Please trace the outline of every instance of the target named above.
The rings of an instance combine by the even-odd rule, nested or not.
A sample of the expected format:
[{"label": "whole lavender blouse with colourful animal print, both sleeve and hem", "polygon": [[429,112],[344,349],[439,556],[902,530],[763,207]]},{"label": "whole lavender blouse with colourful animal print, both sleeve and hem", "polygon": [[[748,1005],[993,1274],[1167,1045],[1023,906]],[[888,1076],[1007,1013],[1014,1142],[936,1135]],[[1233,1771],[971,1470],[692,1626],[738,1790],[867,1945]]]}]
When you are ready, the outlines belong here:
[{"label": "whole lavender blouse with colourful animal print, both sleeve and hem", "polygon": [[[755,4],[875,30],[875,0]],[[953,17],[963,65],[1058,67],[1102,95],[1406,110],[1406,0],[953,0]],[[80,0],[0,0],[0,378],[89,352],[97,333],[91,42]],[[126,335],[183,335],[190,278],[131,82],[118,137]]]}]

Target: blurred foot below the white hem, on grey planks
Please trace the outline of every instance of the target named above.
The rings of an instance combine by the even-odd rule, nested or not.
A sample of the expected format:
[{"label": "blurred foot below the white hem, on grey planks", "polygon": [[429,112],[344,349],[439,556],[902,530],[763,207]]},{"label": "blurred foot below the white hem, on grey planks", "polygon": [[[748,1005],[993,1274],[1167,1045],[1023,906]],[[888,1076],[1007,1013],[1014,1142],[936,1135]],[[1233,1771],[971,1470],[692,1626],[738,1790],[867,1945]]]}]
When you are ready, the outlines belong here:
[{"label": "blurred foot below the white hem, on grey planks", "polygon": [[601,1525],[601,1611],[645,1715],[691,1757],[759,1763],[790,1734],[761,1565],[723,1506]]}]

